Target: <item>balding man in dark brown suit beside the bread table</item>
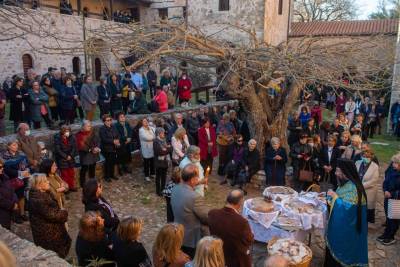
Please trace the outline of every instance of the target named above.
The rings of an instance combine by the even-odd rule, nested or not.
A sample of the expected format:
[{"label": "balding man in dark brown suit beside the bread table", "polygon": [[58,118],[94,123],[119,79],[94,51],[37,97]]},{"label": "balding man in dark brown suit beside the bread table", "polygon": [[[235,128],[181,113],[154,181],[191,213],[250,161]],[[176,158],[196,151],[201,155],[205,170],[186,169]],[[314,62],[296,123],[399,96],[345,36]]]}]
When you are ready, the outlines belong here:
[{"label": "balding man in dark brown suit beside the bread table", "polygon": [[243,205],[243,191],[233,190],[222,209],[208,213],[210,234],[224,242],[225,263],[228,267],[251,267],[250,247],[254,241],[249,223],[239,211]]}]

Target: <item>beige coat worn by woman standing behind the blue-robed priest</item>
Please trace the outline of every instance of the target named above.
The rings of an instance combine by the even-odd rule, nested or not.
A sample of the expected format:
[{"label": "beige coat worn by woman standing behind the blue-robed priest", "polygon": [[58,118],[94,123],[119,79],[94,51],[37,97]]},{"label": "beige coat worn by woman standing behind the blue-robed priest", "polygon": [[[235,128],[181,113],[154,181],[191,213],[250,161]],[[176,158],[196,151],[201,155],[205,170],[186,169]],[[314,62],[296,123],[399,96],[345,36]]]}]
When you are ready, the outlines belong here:
[{"label": "beige coat worn by woman standing behind the blue-robed priest", "polygon": [[[360,165],[361,160],[356,162],[357,171],[360,170]],[[375,162],[371,162],[369,165],[368,170],[364,174],[362,183],[367,193],[368,209],[375,209],[378,188],[382,185],[382,179],[379,176],[379,166]]]}]

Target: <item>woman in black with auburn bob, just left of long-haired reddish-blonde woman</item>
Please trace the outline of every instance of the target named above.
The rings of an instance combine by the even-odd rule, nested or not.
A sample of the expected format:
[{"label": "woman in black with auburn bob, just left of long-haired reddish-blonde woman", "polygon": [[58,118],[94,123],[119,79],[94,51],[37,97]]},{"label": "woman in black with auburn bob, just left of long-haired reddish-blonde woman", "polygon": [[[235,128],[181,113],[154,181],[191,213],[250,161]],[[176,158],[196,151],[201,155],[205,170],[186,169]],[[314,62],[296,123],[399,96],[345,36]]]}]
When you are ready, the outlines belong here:
[{"label": "woman in black with auburn bob, just left of long-haired reddish-blonde woman", "polygon": [[127,217],[118,225],[113,237],[113,252],[118,267],[151,266],[146,249],[139,237],[143,228],[143,220]]}]

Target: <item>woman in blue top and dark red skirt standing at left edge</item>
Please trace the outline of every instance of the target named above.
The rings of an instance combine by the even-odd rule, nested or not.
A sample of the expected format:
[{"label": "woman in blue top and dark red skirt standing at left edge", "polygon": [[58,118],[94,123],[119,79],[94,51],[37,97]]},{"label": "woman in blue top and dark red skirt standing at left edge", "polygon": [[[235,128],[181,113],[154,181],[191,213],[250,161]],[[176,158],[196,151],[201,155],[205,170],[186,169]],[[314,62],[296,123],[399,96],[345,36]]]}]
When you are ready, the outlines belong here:
[{"label": "woman in blue top and dark red skirt standing at left edge", "polygon": [[10,184],[15,190],[18,198],[19,216],[17,223],[27,221],[25,215],[25,189],[28,185],[30,170],[28,168],[28,158],[18,150],[18,141],[13,140],[7,143],[7,150],[2,154],[4,159],[4,172],[10,177]]}]

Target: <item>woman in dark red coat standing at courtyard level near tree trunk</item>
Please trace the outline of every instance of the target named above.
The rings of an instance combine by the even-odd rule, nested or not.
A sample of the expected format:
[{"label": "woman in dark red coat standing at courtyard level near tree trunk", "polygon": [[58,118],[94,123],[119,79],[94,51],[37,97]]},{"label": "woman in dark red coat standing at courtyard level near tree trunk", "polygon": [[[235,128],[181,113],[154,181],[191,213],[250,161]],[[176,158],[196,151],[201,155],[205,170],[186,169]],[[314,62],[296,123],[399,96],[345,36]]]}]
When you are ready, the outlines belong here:
[{"label": "woman in dark red coat standing at courtyard level near tree trunk", "polygon": [[209,167],[211,173],[214,158],[218,155],[216,143],[217,135],[215,127],[211,125],[211,122],[207,117],[204,118],[201,125],[202,127],[197,133],[200,148],[200,163],[204,169]]}]

